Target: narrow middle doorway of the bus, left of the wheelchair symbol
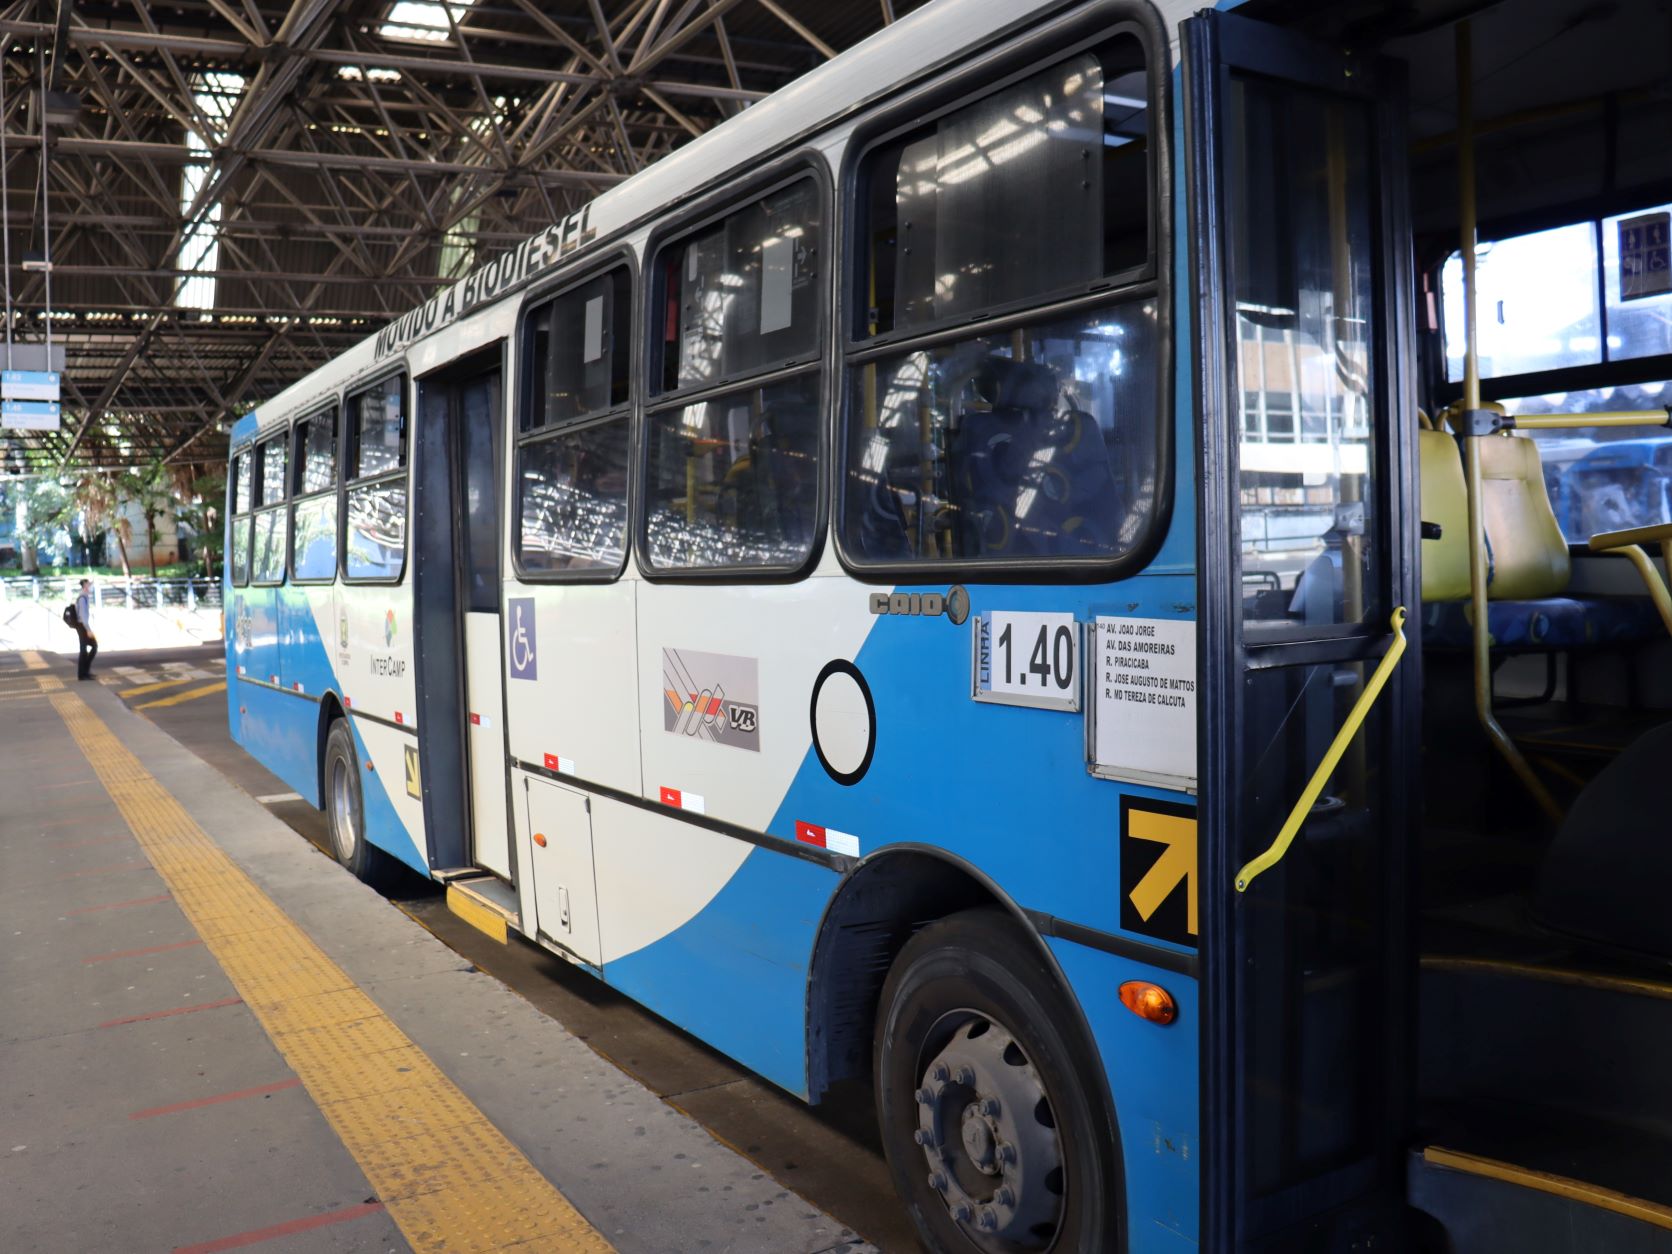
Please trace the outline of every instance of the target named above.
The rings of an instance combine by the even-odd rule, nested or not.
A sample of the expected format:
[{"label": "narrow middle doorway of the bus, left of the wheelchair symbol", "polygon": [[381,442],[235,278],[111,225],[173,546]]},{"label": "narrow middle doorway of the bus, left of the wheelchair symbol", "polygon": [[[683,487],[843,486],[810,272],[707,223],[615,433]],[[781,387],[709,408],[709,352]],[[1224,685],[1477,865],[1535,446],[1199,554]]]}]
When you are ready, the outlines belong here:
[{"label": "narrow middle doorway of the bus, left of the wheelchair symbol", "polygon": [[[425,824],[438,864],[468,863],[512,879],[500,659],[502,351],[497,344],[418,381],[413,609]],[[468,844],[453,836],[460,829]]]}]

